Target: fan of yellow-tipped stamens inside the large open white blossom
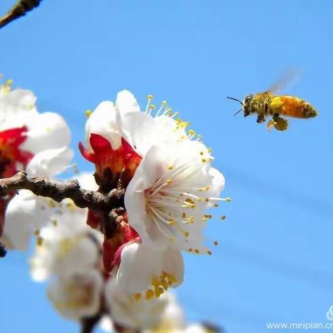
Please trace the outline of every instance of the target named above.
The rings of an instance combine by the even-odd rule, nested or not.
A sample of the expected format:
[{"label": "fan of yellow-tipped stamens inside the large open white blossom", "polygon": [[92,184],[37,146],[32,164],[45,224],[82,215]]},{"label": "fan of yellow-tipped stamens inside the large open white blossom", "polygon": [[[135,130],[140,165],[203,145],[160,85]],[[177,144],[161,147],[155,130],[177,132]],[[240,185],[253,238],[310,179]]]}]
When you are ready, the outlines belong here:
[{"label": "fan of yellow-tipped stamens inside the large open white blossom", "polygon": [[[212,219],[211,214],[205,214],[207,205],[210,203],[212,207],[218,207],[216,202],[230,200],[209,196],[208,185],[198,186],[202,177],[200,169],[212,157],[209,153],[200,153],[200,158],[199,163],[167,167],[167,171],[145,191],[146,212],[170,241],[177,240],[187,244],[191,238],[191,225]],[[187,250],[200,253],[195,248]],[[210,251],[207,253],[210,254]]]}]

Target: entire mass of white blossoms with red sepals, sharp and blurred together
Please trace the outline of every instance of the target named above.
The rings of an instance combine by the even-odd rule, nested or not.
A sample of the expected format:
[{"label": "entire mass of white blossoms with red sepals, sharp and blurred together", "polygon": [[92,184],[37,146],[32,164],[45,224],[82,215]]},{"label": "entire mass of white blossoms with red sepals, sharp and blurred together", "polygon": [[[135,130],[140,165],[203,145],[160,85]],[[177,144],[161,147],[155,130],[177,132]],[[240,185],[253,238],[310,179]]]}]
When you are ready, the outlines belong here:
[{"label": "entire mass of white blossoms with red sepals, sharp and blurred together", "polygon": [[[21,190],[0,198],[0,242],[26,250],[35,234],[31,275],[49,280],[49,299],[65,318],[105,314],[114,327],[147,333],[205,332],[185,325],[167,291],[184,280],[182,251],[212,254],[205,245],[207,210],[229,199],[220,198],[224,178],[211,166],[210,148],[166,101],[156,110],[152,99],[141,111],[124,90],[115,104],[87,112],[86,145],[79,148],[96,173],[78,180],[105,194],[126,189],[115,228],[105,230],[110,212]],[[71,162],[67,124],[58,114],[38,113],[35,101],[9,81],[0,85],[0,178],[22,169],[51,178]]]}]

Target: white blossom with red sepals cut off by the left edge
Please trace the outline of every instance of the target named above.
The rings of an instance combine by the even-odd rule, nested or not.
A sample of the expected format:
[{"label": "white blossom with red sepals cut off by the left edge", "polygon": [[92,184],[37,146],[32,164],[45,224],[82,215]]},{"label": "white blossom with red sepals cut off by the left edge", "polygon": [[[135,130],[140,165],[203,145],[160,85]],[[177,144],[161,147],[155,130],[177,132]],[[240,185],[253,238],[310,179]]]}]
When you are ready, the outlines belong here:
[{"label": "white blossom with red sepals cut off by the left edge", "polygon": [[[0,85],[1,177],[13,176],[22,169],[28,176],[53,177],[71,161],[67,123],[59,114],[38,113],[35,101],[29,90],[11,90],[10,83]],[[40,228],[48,215],[44,200],[19,191],[1,206],[6,215],[1,216],[0,241],[6,248],[25,250],[31,232]]]}]

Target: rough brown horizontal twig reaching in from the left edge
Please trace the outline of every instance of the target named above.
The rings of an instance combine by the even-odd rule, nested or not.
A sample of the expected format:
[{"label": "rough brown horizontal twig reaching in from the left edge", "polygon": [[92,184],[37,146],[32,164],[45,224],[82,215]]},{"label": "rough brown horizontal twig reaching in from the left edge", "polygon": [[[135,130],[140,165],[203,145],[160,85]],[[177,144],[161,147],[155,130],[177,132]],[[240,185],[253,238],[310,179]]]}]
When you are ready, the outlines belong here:
[{"label": "rough brown horizontal twig reaching in from the left edge", "polygon": [[124,189],[112,189],[105,195],[99,191],[81,189],[78,180],[58,182],[41,177],[28,177],[24,171],[10,178],[0,179],[0,191],[17,191],[28,189],[36,196],[44,196],[58,203],[70,198],[80,208],[89,208],[95,212],[110,212],[114,208],[123,207]]}]

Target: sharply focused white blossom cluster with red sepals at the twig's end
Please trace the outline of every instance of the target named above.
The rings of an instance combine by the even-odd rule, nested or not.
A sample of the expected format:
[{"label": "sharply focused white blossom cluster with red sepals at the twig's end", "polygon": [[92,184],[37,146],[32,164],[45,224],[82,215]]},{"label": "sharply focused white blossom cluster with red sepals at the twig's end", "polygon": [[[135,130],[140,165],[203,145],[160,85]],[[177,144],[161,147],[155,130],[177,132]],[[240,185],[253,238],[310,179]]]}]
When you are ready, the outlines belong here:
[{"label": "sharply focused white blossom cluster with red sepals at the twig's end", "polygon": [[204,244],[203,230],[212,218],[207,209],[228,200],[219,198],[224,178],[211,166],[210,149],[193,130],[186,131],[189,123],[166,101],[155,110],[152,99],[149,95],[143,112],[126,90],[115,105],[102,102],[89,112],[87,148],[80,144],[81,153],[96,165],[102,188],[119,180],[127,185],[123,217],[133,232],[125,228],[104,263],[123,296],[135,300],[159,297],[182,283],[181,251],[212,254]]}]

